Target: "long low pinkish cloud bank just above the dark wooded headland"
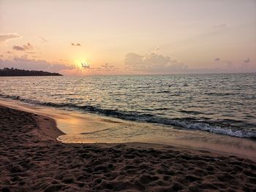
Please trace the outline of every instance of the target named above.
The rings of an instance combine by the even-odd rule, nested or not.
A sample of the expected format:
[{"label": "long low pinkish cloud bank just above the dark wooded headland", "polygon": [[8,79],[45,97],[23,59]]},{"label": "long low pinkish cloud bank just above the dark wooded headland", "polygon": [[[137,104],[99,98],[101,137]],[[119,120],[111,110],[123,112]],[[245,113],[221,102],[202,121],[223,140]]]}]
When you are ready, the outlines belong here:
[{"label": "long low pinkish cloud bank just above the dark wooded headland", "polygon": [[44,60],[29,59],[27,55],[15,57],[12,60],[2,60],[0,58],[0,68],[9,67],[26,70],[42,70],[46,72],[61,72],[63,70],[75,69],[75,66],[67,64],[52,63]]}]

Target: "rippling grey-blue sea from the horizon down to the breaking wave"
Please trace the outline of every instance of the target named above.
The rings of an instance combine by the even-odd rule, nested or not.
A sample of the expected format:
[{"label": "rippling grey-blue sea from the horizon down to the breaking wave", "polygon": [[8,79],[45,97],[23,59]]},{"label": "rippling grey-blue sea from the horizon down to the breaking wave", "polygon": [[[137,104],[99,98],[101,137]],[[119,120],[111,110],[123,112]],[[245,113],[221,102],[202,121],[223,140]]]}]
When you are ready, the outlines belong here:
[{"label": "rippling grey-blue sea from the horizon down to the breaking wave", "polygon": [[0,97],[132,122],[256,137],[256,74],[0,77]]}]

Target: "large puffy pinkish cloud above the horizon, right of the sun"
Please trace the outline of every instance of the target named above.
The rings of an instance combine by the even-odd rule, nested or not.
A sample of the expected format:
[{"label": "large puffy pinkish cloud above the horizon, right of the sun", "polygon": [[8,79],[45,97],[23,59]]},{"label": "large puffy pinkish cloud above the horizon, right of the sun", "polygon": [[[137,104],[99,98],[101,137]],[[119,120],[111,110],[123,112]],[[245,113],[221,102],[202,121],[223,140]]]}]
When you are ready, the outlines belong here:
[{"label": "large puffy pinkish cloud above the horizon, right of the sun", "polygon": [[[158,50],[158,49],[157,49]],[[151,73],[173,73],[185,72],[187,66],[167,55],[150,53],[139,55],[128,53],[125,55],[124,64],[130,71],[151,72]]]}]

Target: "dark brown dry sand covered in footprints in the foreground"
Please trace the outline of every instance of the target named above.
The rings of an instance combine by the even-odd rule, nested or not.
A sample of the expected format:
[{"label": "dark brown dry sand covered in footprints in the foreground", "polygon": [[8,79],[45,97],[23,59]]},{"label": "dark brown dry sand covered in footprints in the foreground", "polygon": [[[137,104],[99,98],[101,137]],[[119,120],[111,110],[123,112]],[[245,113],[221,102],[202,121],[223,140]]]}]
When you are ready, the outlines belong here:
[{"label": "dark brown dry sand covered in footprints in the foreground", "polygon": [[1,191],[256,191],[256,162],[164,145],[56,140],[53,119],[0,106]]}]

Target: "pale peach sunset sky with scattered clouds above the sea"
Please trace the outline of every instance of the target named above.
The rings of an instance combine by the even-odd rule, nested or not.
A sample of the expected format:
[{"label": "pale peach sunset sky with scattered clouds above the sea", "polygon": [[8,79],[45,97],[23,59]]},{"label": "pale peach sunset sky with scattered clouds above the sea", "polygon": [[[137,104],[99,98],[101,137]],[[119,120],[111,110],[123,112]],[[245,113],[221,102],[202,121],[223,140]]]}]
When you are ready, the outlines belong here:
[{"label": "pale peach sunset sky with scattered clouds above the sea", "polygon": [[0,0],[0,69],[256,72],[256,0]]}]

